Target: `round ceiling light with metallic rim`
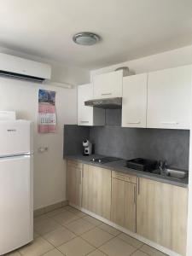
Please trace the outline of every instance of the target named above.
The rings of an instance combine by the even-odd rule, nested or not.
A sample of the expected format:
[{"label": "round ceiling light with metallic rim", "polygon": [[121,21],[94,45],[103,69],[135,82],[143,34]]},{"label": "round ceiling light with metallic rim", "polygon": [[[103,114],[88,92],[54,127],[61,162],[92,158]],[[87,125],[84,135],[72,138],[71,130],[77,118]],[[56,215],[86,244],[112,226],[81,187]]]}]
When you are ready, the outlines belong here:
[{"label": "round ceiling light with metallic rim", "polygon": [[81,45],[93,45],[100,40],[100,36],[92,32],[79,32],[73,36],[74,43]]}]

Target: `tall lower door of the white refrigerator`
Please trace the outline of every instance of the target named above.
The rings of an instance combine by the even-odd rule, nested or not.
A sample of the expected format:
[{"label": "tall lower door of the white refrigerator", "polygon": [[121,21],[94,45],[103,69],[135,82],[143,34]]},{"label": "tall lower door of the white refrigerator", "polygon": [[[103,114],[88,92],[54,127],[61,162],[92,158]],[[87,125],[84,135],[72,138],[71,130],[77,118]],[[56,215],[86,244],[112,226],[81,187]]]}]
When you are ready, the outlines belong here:
[{"label": "tall lower door of the white refrigerator", "polygon": [[0,159],[0,255],[33,239],[32,156]]}]

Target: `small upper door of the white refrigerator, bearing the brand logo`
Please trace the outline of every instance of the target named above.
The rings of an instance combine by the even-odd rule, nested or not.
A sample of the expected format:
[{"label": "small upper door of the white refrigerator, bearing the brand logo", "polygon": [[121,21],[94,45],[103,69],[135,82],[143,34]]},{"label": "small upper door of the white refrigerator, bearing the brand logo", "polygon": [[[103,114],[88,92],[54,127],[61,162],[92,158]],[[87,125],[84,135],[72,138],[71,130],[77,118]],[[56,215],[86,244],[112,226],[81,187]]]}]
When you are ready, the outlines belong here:
[{"label": "small upper door of the white refrigerator, bearing the brand logo", "polygon": [[0,121],[0,157],[32,154],[32,122]]}]

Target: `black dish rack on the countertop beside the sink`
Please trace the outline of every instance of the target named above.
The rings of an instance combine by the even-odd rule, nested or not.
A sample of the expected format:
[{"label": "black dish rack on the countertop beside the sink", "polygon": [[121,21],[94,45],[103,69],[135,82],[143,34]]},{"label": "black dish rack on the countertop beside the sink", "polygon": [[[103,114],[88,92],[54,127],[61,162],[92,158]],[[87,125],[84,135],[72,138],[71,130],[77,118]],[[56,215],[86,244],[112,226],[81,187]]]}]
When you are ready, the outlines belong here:
[{"label": "black dish rack on the countertop beside the sink", "polygon": [[127,160],[126,166],[138,171],[152,172],[156,169],[157,163],[158,162],[156,160],[136,158],[136,159]]}]

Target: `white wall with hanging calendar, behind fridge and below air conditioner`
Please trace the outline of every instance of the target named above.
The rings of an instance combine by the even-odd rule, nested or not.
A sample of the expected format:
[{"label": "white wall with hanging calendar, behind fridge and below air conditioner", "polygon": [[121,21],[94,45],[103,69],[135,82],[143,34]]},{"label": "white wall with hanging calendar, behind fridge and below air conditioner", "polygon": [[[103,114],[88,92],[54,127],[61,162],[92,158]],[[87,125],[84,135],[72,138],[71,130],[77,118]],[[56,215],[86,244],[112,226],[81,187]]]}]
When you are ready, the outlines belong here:
[{"label": "white wall with hanging calendar, behind fridge and below air conditioner", "polygon": [[[31,58],[37,60],[37,58]],[[43,60],[41,60],[43,61]],[[48,61],[46,61],[48,62]],[[77,67],[53,65],[53,79],[58,82],[82,84],[90,73]],[[38,89],[55,90],[57,132],[38,134]],[[0,110],[16,110],[17,118],[34,121],[34,208],[66,200],[66,169],[62,159],[63,125],[77,123],[77,90],[46,84],[0,78]],[[49,148],[38,153],[39,147]]]}]

